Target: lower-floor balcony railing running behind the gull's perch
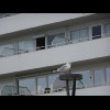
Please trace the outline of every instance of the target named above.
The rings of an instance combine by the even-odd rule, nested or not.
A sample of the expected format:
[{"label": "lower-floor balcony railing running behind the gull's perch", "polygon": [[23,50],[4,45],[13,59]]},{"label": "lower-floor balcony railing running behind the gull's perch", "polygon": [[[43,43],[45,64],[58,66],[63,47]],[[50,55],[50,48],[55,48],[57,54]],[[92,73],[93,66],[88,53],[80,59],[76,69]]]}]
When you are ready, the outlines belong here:
[{"label": "lower-floor balcony railing running behind the gull's perch", "polygon": [[[109,85],[107,85],[109,84]],[[102,82],[98,82],[98,84],[89,84],[88,85],[84,85],[84,86],[76,86],[76,89],[89,89],[89,88],[96,88],[96,87],[102,87],[102,86],[110,86],[110,81],[107,81],[105,85]],[[50,89],[50,90],[44,90],[42,94],[41,92],[36,92],[36,91],[30,91],[30,89],[28,87],[20,87],[20,94],[16,95],[14,94],[14,86],[4,86],[4,89],[0,88],[0,92],[2,91],[2,95],[4,96],[55,96],[62,92],[66,92],[66,88],[57,88],[57,89]],[[69,90],[73,90],[72,87],[69,87]],[[4,92],[4,94],[3,94]],[[0,96],[2,96],[0,94]]]}]

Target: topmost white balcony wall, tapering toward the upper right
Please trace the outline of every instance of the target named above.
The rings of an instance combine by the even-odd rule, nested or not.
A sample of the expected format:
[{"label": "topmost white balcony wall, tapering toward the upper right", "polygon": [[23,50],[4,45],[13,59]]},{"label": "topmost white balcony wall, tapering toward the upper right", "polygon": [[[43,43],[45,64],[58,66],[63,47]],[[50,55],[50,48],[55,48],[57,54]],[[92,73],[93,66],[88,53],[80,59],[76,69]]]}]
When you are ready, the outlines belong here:
[{"label": "topmost white balcony wall, tapering toward the upper right", "polygon": [[0,19],[0,35],[89,14],[92,13],[21,13]]}]

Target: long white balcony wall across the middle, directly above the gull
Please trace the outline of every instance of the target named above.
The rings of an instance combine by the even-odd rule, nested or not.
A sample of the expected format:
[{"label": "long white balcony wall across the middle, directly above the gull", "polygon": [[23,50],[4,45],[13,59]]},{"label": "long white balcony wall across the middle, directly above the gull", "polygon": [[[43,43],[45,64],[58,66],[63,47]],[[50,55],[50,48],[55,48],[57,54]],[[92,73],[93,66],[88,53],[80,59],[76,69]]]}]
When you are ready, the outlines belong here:
[{"label": "long white balcony wall across the middle, directly above the gull", "polygon": [[0,58],[0,75],[110,56],[110,37]]}]

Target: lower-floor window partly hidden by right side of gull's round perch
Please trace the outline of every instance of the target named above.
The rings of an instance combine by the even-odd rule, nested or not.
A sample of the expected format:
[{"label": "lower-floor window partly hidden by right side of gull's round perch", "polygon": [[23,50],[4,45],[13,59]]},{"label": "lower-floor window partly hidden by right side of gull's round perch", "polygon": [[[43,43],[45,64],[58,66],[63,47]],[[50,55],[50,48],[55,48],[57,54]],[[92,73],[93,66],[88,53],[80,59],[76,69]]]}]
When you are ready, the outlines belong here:
[{"label": "lower-floor window partly hidden by right side of gull's round perch", "polygon": [[86,72],[77,72],[77,73],[72,73],[72,74],[81,74],[82,75],[82,79],[81,79],[81,82],[80,81],[76,81],[76,86],[77,88],[88,88],[90,86],[90,73],[89,70],[86,70]]}]

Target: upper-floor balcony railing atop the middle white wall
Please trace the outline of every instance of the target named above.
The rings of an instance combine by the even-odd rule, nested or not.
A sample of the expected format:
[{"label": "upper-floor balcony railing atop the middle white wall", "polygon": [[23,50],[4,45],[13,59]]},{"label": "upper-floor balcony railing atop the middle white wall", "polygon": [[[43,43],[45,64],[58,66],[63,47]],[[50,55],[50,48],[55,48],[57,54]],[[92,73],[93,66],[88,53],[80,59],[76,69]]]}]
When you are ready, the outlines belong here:
[{"label": "upper-floor balcony railing atop the middle white wall", "polygon": [[[53,47],[57,47],[57,46],[76,44],[76,43],[81,43],[81,42],[86,42],[86,41],[92,41],[92,40],[96,40],[96,38],[105,38],[105,37],[109,37],[109,36],[110,36],[110,33],[107,33],[107,34],[97,35],[97,36],[90,36],[90,37],[84,37],[84,38],[62,42],[62,43],[57,43],[57,44],[53,44],[53,45],[38,46],[38,47],[33,48],[33,51],[29,51],[29,50],[18,50],[18,51],[15,51],[16,48],[4,47],[3,51],[0,53],[0,57],[7,57],[7,56],[12,56],[12,55],[18,55],[18,54],[42,51],[42,50],[48,50],[48,48],[53,48]],[[11,51],[11,52],[9,53],[9,51]]]}]

